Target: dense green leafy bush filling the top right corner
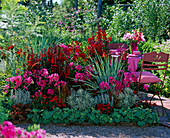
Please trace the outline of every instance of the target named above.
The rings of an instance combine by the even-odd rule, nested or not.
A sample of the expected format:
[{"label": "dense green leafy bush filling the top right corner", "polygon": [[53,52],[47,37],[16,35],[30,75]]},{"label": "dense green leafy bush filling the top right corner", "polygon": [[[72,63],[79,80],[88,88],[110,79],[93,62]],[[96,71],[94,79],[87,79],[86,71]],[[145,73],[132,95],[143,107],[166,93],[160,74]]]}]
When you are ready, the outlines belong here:
[{"label": "dense green leafy bush filling the top right corner", "polygon": [[138,28],[147,37],[153,40],[159,38],[161,40],[165,33],[167,37],[170,17],[170,1],[169,0],[136,0],[134,1],[134,13],[138,15],[136,20]]}]

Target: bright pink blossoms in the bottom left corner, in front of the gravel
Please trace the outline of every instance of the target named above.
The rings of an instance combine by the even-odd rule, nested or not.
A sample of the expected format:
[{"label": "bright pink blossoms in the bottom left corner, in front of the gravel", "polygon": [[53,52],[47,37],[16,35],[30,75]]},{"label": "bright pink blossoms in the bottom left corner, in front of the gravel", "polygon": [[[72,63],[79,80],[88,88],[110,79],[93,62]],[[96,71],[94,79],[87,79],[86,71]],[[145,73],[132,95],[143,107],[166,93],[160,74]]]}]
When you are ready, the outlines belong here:
[{"label": "bright pink blossoms in the bottom left corner, in front of the gravel", "polygon": [[45,138],[46,131],[39,129],[36,131],[27,132],[20,127],[15,126],[9,122],[4,121],[3,125],[0,125],[0,137],[5,138]]}]

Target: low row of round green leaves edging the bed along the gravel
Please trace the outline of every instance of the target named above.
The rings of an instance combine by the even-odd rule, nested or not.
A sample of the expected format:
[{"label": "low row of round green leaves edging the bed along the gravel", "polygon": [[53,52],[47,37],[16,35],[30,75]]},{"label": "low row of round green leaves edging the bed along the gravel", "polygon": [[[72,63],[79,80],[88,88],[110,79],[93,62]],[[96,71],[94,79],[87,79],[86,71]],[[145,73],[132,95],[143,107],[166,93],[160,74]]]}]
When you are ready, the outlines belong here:
[{"label": "low row of round green leaves edging the bed along the gravel", "polygon": [[[43,114],[43,115],[42,115]],[[54,108],[53,111],[33,111],[29,118],[34,123],[55,123],[55,124],[68,124],[68,123],[83,123],[89,122],[92,124],[105,124],[105,123],[121,123],[133,122],[142,127],[145,124],[157,124],[159,122],[158,116],[151,109],[143,109],[143,107],[121,108],[114,109],[110,115],[100,113],[99,110],[88,108],[87,110],[80,111],[75,108]],[[36,119],[35,119],[36,118]],[[41,120],[41,121],[40,121]]]}]

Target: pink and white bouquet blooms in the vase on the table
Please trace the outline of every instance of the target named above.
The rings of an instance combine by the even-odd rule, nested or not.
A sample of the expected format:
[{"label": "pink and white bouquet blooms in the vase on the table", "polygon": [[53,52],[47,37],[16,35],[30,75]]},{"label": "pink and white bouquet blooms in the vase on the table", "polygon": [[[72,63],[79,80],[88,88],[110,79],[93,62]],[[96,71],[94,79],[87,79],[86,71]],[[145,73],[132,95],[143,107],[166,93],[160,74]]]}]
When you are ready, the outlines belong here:
[{"label": "pink and white bouquet blooms in the vase on the table", "polygon": [[144,35],[141,32],[137,32],[136,30],[132,31],[131,33],[126,33],[123,36],[123,40],[128,39],[128,40],[132,40],[132,41],[145,41]]}]

